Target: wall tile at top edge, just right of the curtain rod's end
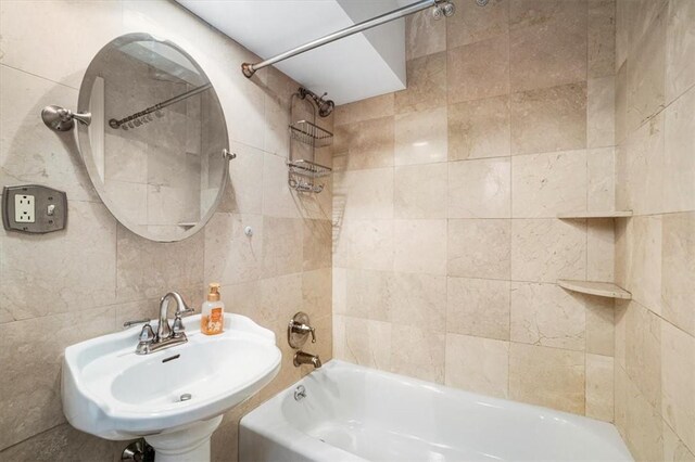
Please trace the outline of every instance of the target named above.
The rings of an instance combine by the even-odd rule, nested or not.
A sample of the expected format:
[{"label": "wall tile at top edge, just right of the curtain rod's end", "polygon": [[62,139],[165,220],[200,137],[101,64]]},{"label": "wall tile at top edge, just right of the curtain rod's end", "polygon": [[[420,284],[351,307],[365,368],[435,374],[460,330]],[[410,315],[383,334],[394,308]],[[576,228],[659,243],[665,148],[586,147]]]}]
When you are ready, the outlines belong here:
[{"label": "wall tile at top edge, just right of the curtain rod's end", "polygon": [[446,48],[505,35],[509,28],[509,1],[492,0],[484,8],[455,0],[456,14],[446,18]]}]

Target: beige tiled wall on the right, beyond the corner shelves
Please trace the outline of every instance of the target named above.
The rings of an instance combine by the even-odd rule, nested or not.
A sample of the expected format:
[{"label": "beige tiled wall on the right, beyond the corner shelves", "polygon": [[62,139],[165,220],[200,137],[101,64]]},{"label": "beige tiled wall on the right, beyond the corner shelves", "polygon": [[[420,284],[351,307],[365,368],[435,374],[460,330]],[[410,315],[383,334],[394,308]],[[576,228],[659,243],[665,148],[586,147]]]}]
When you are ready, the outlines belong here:
[{"label": "beige tiled wall on the right, beyond the corner shelves", "polygon": [[640,461],[695,460],[695,2],[617,3],[616,423]]}]

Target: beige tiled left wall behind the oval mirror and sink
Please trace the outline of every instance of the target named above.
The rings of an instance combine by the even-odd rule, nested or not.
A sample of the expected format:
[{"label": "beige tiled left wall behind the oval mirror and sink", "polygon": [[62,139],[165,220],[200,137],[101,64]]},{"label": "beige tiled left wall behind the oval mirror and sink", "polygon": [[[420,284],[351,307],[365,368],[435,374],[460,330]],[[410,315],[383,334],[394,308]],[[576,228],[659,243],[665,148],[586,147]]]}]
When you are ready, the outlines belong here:
[{"label": "beige tiled left wall behind the oval mirror and sink", "polygon": [[[101,440],[65,422],[63,349],[119,331],[125,320],[155,317],[156,298],[169,290],[199,307],[204,284],[219,281],[228,310],[273,329],[285,356],[279,376],[230,412],[213,437],[214,459],[236,460],[239,416],[308,372],[291,365],[287,320],[307,311],[318,331],[316,352],[326,360],[332,351],[330,184],[319,196],[287,188],[296,84],[271,69],[248,80],[239,64],[253,61],[251,53],[167,1],[2,1],[0,29],[0,183],[65,190],[70,209],[63,232],[0,231],[0,459],[119,460],[126,441]],[[201,64],[238,153],[218,213],[179,243],[153,243],[118,226],[96,195],[72,133],[56,136],[39,116],[48,104],[75,108],[93,54],[130,31],[170,38]]]}]

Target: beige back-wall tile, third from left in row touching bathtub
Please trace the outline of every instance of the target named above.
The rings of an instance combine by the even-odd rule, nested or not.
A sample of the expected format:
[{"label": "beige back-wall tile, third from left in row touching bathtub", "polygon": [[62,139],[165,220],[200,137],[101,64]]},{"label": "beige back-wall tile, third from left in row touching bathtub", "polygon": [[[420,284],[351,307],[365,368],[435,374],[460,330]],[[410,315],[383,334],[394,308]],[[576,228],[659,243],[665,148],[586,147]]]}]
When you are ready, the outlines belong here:
[{"label": "beige back-wall tile, third from left in row touching bathtub", "polygon": [[446,334],[447,386],[497,398],[509,397],[509,343]]}]

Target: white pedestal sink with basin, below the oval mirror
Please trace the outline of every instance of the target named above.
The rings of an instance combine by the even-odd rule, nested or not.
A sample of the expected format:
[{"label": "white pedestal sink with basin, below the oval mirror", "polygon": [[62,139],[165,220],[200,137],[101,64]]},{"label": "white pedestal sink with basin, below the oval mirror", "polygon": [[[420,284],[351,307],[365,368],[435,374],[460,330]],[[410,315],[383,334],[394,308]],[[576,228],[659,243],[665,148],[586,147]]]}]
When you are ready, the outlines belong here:
[{"label": "white pedestal sink with basin, below the oval mirror", "polygon": [[144,437],[156,462],[210,460],[222,414],[267,385],[280,369],[275,334],[247,317],[225,315],[225,332],[136,355],[139,328],[65,349],[62,397],[67,421],[105,439]]}]

